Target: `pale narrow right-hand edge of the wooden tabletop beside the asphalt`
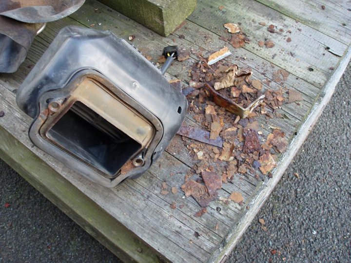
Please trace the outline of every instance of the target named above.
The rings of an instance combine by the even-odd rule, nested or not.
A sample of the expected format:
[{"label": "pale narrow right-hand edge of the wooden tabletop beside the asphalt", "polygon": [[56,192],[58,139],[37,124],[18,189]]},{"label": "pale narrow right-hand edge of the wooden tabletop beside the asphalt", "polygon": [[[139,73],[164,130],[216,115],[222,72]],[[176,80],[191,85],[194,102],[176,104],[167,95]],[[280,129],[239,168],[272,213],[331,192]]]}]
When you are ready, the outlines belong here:
[{"label": "pale narrow right-hand edge of the wooden tabletop beside the asphalt", "polygon": [[322,114],[325,106],[331,99],[332,94],[335,91],[335,87],[339,82],[340,78],[344,74],[346,67],[351,59],[351,47],[349,47],[346,55],[340,61],[338,67],[334,71],[334,74],[327,81],[324,86],[321,96],[318,98],[316,103],[312,107],[312,111],[306,118],[306,121],[301,125],[297,135],[292,139],[292,143],[289,149],[284,153],[283,158],[278,163],[277,169],[273,171],[273,178],[269,179],[267,183],[262,184],[260,189],[256,192],[254,198],[248,204],[249,210],[242,214],[242,217],[238,224],[233,227],[233,231],[226,237],[226,241],[222,242],[223,247],[219,247],[209,259],[210,262],[223,263],[229,256],[230,252],[234,249],[235,245],[239,242],[241,236],[245,230],[251,225],[254,217],[258,213],[259,209],[263,206],[265,201],[272,193],[275,186],[280,181],[284,174],[284,171],[288,168],[292,159],[300,149],[302,144],[305,142],[307,136],[312,131],[318,118]]}]

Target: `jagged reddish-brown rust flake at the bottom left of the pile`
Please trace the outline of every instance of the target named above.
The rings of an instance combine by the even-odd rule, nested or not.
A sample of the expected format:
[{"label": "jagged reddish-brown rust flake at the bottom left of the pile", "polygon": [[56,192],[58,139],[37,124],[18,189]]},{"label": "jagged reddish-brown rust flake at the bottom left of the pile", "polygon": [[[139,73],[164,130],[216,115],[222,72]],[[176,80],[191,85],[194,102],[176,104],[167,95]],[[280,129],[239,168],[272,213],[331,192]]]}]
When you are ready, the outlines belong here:
[{"label": "jagged reddish-brown rust flake at the bottom left of the pile", "polygon": [[181,186],[186,197],[193,196],[195,201],[200,205],[200,207],[207,207],[209,203],[217,197],[217,193],[210,195],[206,191],[206,187],[193,180],[186,182]]}]

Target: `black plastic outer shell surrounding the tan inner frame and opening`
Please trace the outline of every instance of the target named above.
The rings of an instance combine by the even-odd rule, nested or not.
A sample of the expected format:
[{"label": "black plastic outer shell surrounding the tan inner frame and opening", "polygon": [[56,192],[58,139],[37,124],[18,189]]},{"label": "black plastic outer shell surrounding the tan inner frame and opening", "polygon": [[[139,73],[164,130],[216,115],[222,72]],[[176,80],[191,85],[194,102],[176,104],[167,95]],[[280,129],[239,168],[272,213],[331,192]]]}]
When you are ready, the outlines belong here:
[{"label": "black plastic outer shell surrounding the tan inner frame and opening", "polygon": [[[155,136],[145,148],[145,163],[136,166],[129,160],[132,169],[125,169],[124,174],[114,178],[101,175],[61,150],[45,138],[44,130],[40,130],[48,116],[48,99],[64,102],[87,77],[130,105],[155,128]],[[135,178],[146,171],[168,146],[187,112],[185,96],[129,43],[111,32],[77,26],[59,32],[20,86],[16,100],[20,109],[34,118],[29,135],[36,146],[106,187],[116,186],[125,178]]]}]

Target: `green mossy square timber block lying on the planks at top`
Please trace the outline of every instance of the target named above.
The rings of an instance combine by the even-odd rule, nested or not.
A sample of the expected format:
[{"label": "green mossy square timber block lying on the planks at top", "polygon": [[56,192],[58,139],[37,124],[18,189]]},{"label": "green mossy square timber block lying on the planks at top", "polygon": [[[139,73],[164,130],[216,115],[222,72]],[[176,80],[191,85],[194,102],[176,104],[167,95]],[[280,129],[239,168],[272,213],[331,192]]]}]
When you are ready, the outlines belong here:
[{"label": "green mossy square timber block lying on the planks at top", "polygon": [[99,1],[164,37],[171,34],[196,7],[196,0]]}]

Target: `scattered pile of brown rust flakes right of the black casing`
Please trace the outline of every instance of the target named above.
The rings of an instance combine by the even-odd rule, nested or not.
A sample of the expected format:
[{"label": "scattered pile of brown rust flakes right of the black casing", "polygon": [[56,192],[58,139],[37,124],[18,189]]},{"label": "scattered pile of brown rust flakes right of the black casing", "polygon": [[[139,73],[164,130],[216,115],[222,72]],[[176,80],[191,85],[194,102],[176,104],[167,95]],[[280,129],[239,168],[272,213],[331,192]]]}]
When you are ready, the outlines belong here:
[{"label": "scattered pile of brown rust flakes right of the black casing", "polygon": [[[238,29],[231,25],[228,30],[236,32]],[[222,53],[227,51],[217,52],[219,56]],[[243,193],[229,191],[225,184],[237,179],[271,177],[278,155],[287,149],[288,143],[284,131],[279,127],[266,127],[264,121],[259,124],[258,119],[281,117],[275,110],[288,101],[301,100],[302,96],[293,90],[267,88],[264,85],[267,83],[252,79],[249,68],[239,68],[223,59],[209,65],[209,60],[215,60],[215,56],[210,56],[209,60],[201,54],[198,57],[199,61],[189,70],[189,87],[183,89],[188,98],[188,116],[197,125],[183,124],[178,134],[193,157],[193,167],[185,175],[181,189],[186,197],[192,196],[202,207],[195,214],[202,216],[215,200],[225,205],[245,204]],[[279,78],[280,82],[289,76],[283,70],[274,74],[273,79]],[[229,103],[216,100],[214,94]],[[258,98],[262,104],[244,118],[230,111],[232,104],[245,108]]]}]

